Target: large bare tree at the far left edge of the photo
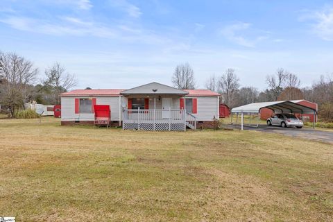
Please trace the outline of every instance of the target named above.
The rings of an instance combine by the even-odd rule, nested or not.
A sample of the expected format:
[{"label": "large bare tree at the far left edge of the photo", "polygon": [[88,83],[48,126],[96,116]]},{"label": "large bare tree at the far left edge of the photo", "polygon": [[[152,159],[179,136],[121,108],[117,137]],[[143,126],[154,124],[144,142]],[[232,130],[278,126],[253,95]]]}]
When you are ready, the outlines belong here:
[{"label": "large bare tree at the far left edge of the photo", "polygon": [[4,105],[13,116],[29,98],[29,89],[36,81],[38,69],[15,53],[0,53],[0,76],[3,83]]}]

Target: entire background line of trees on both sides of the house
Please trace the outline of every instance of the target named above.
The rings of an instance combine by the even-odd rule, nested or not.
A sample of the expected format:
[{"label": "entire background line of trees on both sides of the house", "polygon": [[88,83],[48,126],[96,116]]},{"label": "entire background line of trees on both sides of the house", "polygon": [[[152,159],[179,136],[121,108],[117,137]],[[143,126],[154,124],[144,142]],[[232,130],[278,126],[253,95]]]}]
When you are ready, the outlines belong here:
[{"label": "entire background line of trees on both sides of the house", "polygon": [[[24,103],[36,101],[42,104],[60,104],[59,94],[77,85],[74,74],[55,62],[44,70],[16,53],[0,52],[0,105],[11,116],[15,110],[23,109]],[[194,70],[189,63],[176,66],[171,81],[178,89],[195,89]],[[266,89],[241,87],[234,69],[207,78],[205,88],[221,94],[221,103],[230,108],[248,103],[306,99],[318,103],[318,110],[325,120],[333,121],[333,74],[320,76],[310,86],[301,87],[300,78],[286,69],[277,69],[266,76]]]}]

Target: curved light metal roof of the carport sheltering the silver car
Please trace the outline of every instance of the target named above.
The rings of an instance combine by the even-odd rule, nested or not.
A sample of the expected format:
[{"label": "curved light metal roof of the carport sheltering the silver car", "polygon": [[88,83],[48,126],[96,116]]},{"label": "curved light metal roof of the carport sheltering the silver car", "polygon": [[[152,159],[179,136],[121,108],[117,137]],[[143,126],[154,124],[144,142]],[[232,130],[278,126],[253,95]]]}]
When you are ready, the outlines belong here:
[{"label": "curved light metal roof of the carport sheltering the silver car", "polygon": [[237,108],[233,108],[231,112],[248,112],[258,113],[262,108],[268,108],[275,113],[287,112],[287,113],[301,113],[301,114],[314,114],[316,110],[309,108],[305,105],[293,103],[291,101],[275,101],[265,103],[250,103],[248,105],[242,105]]}]

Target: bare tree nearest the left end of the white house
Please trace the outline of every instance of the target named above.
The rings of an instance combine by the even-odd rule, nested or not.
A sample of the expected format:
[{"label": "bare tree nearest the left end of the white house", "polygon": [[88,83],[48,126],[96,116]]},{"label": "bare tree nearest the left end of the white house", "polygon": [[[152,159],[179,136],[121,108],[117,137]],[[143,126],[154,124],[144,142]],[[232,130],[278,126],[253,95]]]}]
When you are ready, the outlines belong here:
[{"label": "bare tree nearest the left end of the white house", "polygon": [[65,71],[65,67],[62,67],[58,62],[45,70],[46,80],[44,80],[44,85],[51,89],[51,96],[55,104],[60,104],[60,93],[67,92],[77,84],[74,74],[69,74]]}]

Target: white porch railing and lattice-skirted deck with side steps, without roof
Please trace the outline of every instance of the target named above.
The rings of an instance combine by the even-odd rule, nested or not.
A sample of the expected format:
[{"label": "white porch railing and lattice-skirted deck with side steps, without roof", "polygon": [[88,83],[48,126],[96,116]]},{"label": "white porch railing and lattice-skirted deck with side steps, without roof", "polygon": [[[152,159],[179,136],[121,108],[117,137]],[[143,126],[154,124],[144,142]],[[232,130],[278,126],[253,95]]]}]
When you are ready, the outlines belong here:
[{"label": "white porch railing and lattice-skirted deck with side steps, without roof", "polygon": [[185,110],[123,109],[124,130],[185,131],[196,129],[196,117]]}]

